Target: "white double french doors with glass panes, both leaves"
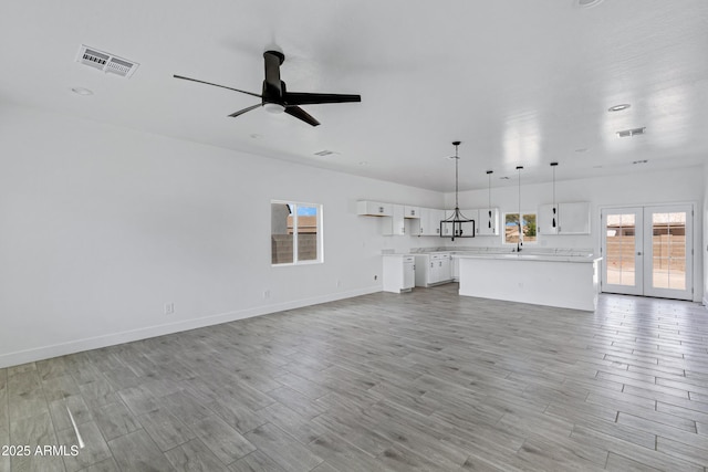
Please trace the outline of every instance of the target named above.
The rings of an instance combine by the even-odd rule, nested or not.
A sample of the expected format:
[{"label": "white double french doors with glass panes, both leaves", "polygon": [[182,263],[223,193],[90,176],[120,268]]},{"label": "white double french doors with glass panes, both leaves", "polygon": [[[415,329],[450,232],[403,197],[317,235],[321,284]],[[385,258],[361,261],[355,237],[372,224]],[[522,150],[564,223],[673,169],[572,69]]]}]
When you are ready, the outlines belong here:
[{"label": "white double french doors with glass panes, both leaves", "polygon": [[602,291],[693,300],[693,204],[602,211]]}]

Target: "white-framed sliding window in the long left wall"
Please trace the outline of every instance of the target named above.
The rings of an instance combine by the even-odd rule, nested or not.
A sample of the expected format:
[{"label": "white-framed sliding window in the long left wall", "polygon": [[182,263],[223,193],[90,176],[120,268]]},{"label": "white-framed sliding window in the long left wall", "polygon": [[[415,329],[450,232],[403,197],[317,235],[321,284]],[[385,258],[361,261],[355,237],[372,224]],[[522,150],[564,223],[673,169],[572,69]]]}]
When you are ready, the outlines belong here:
[{"label": "white-framed sliding window in the long left wall", "polygon": [[322,262],[322,206],[271,201],[271,263]]}]

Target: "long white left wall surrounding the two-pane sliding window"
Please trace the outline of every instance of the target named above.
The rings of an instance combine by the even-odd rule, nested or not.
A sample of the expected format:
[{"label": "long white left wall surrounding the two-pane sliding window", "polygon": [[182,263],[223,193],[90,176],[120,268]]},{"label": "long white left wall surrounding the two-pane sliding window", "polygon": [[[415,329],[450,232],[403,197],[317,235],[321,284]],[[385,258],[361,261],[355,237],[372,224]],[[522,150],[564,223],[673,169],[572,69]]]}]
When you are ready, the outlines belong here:
[{"label": "long white left wall surrounding the two-pane sliding window", "polygon": [[[7,105],[0,162],[0,367],[381,291],[382,249],[421,244],[382,237],[356,200],[442,204],[433,191]],[[271,199],[324,204],[324,264],[271,266]]]}]

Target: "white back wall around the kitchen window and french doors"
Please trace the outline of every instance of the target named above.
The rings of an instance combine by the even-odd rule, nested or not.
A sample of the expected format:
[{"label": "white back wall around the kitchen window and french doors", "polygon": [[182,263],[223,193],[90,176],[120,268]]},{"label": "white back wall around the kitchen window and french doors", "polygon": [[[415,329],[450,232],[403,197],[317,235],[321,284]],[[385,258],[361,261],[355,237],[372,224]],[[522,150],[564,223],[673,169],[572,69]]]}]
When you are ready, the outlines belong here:
[{"label": "white back wall around the kitchen window and french doors", "polygon": [[[603,207],[618,207],[650,203],[695,203],[696,219],[694,220],[694,248],[696,260],[694,265],[694,300],[700,301],[708,286],[704,284],[708,275],[705,269],[702,251],[706,234],[705,209],[708,208],[708,170],[704,166],[686,167],[645,174],[612,176],[603,178],[587,178],[579,180],[556,181],[556,201],[589,201],[591,203],[591,234],[561,235],[540,234],[538,248],[592,248],[600,253],[600,209]],[[519,190],[516,186],[492,187],[492,207],[504,211],[517,212],[519,209]],[[487,189],[460,192],[460,208],[487,207],[489,193]],[[539,204],[552,203],[553,189],[551,183],[521,186],[521,210],[537,211]],[[455,193],[446,195],[446,208],[455,206]],[[708,216],[707,216],[708,218]],[[446,240],[450,248],[459,247],[501,247],[501,237],[481,237],[475,239]],[[527,249],[531,243],[524,244]]]}]

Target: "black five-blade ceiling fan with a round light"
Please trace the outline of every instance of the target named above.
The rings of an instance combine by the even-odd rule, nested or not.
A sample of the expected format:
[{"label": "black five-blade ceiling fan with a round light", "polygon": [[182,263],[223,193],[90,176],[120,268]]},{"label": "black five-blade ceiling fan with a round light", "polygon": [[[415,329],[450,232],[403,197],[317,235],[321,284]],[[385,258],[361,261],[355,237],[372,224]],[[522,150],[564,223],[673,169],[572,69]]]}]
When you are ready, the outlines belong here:
[{"label": "black five-blade ceiling fan with a round light", "polygon": [[256,96],[261,99],[261,103],[257,105],[252,105],[243,109],[239,109],[238,112],[233,112],[229,115],[232,118],[242,115],[246,112],[250,112],[251,109],[256,109],[259,106],[262,106],[268,112],[285,112],[287,114],[294,116],[298,119],[302,119],[303,122],[312,126],[317,126],[320,122],[314,119],[308,112],[302,109],[300,105],[362,101],[361,95],[288,92],[288,90],[285,88],[285,83],[280,80],[280,65],[283,63],[283,61],[285,61],[285,55],[280,51],[266,51],[263,53],[263,60],[266,63],[266,80],[263,81],[263,91],[260,95],[233,87],[227,87],[226,85],[212,84],[211,82],[185,77],[183,75],[174,75],[174,77],[240,92],[242,94]]}]

